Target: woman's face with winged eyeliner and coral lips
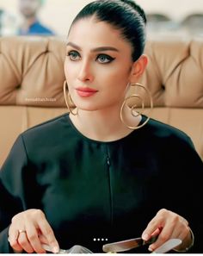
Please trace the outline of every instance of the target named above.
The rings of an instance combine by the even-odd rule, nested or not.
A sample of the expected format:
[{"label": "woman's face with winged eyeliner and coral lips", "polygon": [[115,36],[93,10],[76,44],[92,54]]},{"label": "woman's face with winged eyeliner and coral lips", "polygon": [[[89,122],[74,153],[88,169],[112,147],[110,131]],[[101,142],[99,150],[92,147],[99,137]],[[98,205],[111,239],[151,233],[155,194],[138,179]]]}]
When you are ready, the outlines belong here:
[{"label": "woman's face with winged eyeliner and coral lips", "polygon": [[70,31],[65,77],[78,109],[119,106],[132,71],[132,47],[120,31],[95,18],[76,22]]}]

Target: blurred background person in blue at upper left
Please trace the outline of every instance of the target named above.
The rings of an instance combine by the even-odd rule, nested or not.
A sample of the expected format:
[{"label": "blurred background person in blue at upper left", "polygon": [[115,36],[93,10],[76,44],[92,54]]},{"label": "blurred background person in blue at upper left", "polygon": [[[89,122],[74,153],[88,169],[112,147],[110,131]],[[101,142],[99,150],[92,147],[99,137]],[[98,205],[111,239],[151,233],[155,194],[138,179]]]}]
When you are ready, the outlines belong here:
[{"label": "blurred background person in blue at upper left", "polygon": [[43,5],[43,0],[19,0],[19,9],[23,16],[23,22],[17,31],[20,35],[54,35],[50,28],[40,23],[38,12]]}]

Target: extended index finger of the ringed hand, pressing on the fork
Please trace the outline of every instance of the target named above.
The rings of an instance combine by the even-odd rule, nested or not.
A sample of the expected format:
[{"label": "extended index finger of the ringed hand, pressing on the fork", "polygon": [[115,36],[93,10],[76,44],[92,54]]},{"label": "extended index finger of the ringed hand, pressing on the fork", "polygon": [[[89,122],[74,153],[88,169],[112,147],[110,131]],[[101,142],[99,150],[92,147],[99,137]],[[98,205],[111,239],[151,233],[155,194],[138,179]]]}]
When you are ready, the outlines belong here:
[{"label": "extended index finger of the ringed hand, pressing on the fork", "polygon": [[53,234],[52,228],[49,225],[49,223],[46,221],[46,219],[40,220],[40,232],[45,237],[45,239],[48,242],[48,245],[52,248],[52,253],[58,253],[59,246],[58,241],[55,238],[55,235]]}]

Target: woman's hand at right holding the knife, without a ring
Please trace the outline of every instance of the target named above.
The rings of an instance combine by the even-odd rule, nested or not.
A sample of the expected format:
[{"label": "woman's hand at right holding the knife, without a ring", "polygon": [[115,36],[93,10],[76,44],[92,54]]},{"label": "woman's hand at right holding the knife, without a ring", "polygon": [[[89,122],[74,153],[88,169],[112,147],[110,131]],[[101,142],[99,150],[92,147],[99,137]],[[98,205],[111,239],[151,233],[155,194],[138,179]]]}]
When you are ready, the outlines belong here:
[{"label": "woman's hand at right holding the knife, without a ring", "polygon": [[192,236],[188,222],[181,215],[167,209],[160,209],[157,215],[149,222],[147,228],[142,234],[143,240],[149,240],[151,235],[157,235],[157,240],[149,247],[150,251],[154,251],[160,247],[166,240],[171,238],[179,238],[182,243],[177,250],[185,250],[192,244]]}]

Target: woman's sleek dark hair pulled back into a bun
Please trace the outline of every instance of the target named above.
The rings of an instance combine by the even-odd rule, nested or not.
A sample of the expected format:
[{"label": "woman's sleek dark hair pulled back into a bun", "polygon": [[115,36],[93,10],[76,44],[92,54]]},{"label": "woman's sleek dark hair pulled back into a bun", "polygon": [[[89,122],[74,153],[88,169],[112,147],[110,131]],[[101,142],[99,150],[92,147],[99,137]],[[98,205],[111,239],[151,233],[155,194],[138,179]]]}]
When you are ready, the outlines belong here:
[{"label": "woman's sleek dark hair pulled back into a bun", "polygon": [[77,21],[90,16],[120,29],[123,38],[132,44],[133,61],[144,52],[146,16],[137,3],[132,0],[96,0],[77,14],[71,27]]}]

